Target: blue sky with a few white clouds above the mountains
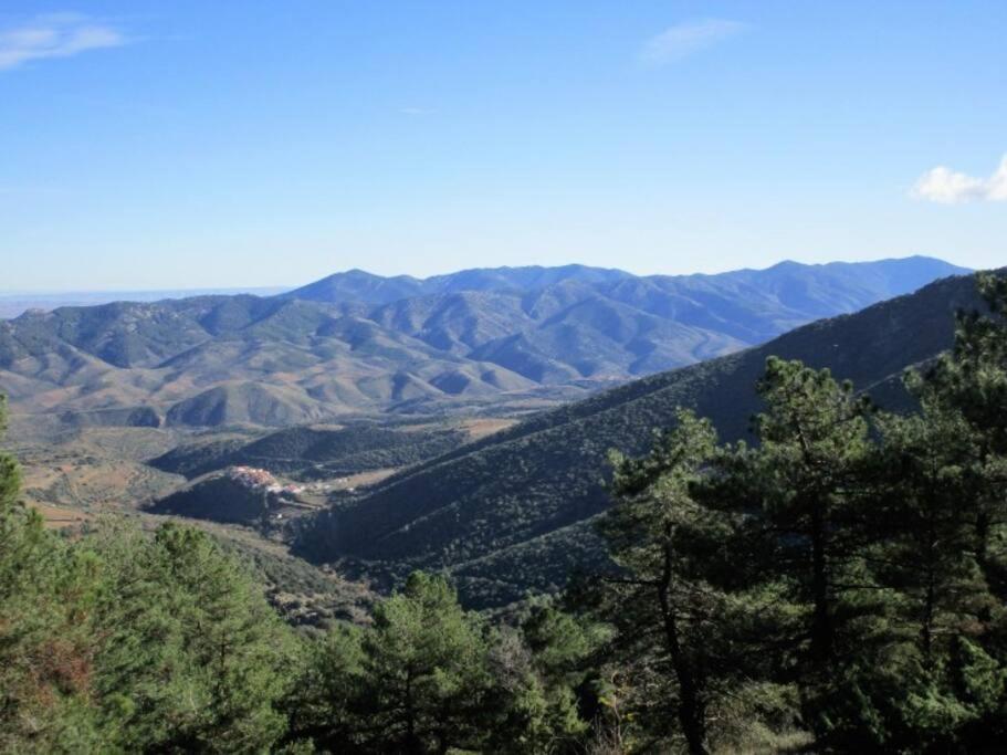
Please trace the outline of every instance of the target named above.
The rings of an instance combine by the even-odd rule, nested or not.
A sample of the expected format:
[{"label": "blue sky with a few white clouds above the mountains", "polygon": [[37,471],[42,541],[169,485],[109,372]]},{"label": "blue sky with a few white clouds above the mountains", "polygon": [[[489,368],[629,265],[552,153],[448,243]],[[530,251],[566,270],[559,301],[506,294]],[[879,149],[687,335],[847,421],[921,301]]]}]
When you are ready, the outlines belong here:
[{"label": "blue sky with a few white clouds above the mountains", "polygon": [[0,0],[0,290],[1007,264],[1007,2]]}]

